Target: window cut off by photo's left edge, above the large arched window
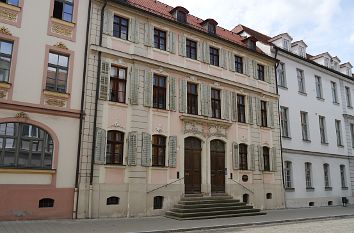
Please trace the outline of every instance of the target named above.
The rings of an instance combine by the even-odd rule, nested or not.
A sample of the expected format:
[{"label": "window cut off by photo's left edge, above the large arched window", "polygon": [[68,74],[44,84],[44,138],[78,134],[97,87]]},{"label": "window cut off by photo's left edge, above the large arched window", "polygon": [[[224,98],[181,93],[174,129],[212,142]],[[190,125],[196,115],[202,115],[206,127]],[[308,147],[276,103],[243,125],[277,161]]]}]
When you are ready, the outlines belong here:
[{"label": "window cut off by photo's left edge, above the large arched window", "polygon": [[9,82],[13,43],[0,40],[0,82]]}]

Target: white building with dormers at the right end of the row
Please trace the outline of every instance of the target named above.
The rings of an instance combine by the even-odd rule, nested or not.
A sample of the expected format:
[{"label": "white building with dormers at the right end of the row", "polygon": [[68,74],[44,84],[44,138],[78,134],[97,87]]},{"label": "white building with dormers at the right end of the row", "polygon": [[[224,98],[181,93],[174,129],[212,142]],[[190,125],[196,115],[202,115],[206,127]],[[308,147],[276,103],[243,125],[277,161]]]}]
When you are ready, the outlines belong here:
[{"label": "white building with dormers at the right end of the row", "polygon": [[329,53],[311,56],[304,41],[293,42],[287,33],[271,38],[242,25],[233,31],[255,37],[259,48],[280,60],[277,77],[286,206],[341,204],[341,197],[352,196],[351,64],[340,64]]}]

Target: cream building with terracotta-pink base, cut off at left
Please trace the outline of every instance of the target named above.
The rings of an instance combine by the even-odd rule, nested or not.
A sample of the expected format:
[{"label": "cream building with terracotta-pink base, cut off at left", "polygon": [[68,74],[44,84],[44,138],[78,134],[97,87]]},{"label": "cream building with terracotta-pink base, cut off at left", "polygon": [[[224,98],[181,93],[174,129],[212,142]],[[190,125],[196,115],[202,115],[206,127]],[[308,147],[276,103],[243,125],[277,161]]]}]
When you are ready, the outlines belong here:
[{"label": "cream building with terracotta-pink base, cut off at left", "polygon": [[0,220],[73,216],[87,10],[0,2]]}]

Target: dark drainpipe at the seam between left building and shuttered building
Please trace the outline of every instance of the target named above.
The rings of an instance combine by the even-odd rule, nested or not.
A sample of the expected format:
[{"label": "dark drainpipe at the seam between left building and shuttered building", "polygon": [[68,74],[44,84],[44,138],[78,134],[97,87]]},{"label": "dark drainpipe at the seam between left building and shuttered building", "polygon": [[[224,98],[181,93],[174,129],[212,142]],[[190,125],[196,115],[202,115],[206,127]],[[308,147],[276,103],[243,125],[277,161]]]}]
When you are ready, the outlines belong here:
[{"label": "dark drainpipe at the seam between left building and shuttered building", "polygon": [[81,90],[81,107],[80,107],[80,125],[79,125],[79,140],[77,145],[77,157],[76,157],[76,176],[75,176],[75,192],[74,192],[74,209],[73,218],[77,219],[77,209],[79,203],[79,173],[80,173],[80,157],[81,157],[81,140],[82,140],[82,126],[84,123],[84,106],[85,106],[85,84],[86,84],[86,66],[87,66],[87,50],[88,50],[88,38],[91,22],[91,0],[89,0],[88,13],[87,13],[87,25],[86,25],[86,42],[85,42],[85,56],[84,56],[84,70],[82,77],[82,90]]}]

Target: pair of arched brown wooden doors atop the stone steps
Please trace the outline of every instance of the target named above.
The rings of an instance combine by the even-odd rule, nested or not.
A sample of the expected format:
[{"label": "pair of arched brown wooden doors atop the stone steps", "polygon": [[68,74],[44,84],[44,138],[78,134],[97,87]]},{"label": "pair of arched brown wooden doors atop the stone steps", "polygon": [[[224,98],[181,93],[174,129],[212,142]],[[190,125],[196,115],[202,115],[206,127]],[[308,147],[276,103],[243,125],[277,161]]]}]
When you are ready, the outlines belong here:
[{"label": "pair of arched brown wooden doors atop the stone steps", "polygon": [[[201,141],[188,137],[184,140],[184,184],[186,194],[201,193]],[[211,192],[225,192],[225,143],[210,143]]]}]

